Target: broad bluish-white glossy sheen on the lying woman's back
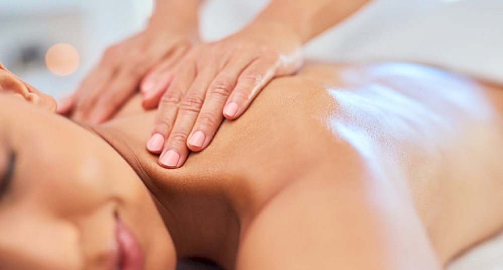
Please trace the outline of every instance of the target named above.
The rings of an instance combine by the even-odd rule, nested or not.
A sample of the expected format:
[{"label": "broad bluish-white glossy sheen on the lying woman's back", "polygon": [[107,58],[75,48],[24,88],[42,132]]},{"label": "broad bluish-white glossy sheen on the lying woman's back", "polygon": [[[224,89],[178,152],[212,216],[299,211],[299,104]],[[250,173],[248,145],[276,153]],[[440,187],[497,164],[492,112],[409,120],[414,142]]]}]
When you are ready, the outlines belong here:
[{"label": "broad bluish-white glossy sheen on the lying woman's back", "polygon": [[[456,138],[475,142],[494,134],[488,127],[497,123],[496,113],[467,79],[402,63],[348,69],[342,78],[345,89],[327,89],[337,106],[326,124],[388,179],[410,174],[407,164],[414,158],[409,153],[428,157],[414,172],[416,180],[428,179],[445,159],[444,150],[459,148]],[[411,149],[413,145],[421,147]]]}]

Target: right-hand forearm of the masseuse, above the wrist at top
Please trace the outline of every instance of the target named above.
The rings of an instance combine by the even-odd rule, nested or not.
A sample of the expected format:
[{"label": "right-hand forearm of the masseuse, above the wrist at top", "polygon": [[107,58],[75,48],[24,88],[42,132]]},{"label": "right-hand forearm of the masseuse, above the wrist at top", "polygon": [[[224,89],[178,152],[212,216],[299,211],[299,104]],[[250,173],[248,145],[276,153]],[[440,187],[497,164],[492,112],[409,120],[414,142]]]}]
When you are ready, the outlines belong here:
[{"label": "right-hand forearm of the masseuse, above the wrist at top", "polygon": [[340,23],[370,0],[272,0],[251,25],[276,24],[303,43]]}]

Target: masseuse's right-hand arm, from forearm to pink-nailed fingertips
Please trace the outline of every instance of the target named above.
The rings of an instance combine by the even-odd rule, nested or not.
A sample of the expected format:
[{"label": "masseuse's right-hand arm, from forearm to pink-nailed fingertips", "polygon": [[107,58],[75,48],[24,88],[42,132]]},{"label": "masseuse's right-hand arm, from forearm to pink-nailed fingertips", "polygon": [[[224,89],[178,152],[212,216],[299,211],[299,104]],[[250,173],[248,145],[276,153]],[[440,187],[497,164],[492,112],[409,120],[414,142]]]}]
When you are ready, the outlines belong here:
[{"label": "masseuse's right-hand arm, from forearm to pink-nailed fingertips", "polygon": [[238,33],[191,50],[170,87],[144,102],[159,104],[147,149],[159,165],[181,167],[224,118],[238,118],[273,78],[301,67],[304,43],[367,2],[275,0]]}]

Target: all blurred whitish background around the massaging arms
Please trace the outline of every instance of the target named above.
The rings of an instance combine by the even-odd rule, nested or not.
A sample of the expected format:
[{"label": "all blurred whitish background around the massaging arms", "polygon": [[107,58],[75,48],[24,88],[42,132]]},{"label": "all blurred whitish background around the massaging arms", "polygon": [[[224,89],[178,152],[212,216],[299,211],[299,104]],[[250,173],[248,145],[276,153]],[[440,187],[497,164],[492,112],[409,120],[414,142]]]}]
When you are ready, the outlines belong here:
[{"label": "all blurred whitish background around the massaging arms", "polygon": [[[0,62],[59,99],[106,47],[140,31],[153,0],[0,0]],[[238,31],[268,0],[207,0],[203,40]],[[379,0],[306,46],[307,58],[411,61],[503,83],[503,0]]]}]

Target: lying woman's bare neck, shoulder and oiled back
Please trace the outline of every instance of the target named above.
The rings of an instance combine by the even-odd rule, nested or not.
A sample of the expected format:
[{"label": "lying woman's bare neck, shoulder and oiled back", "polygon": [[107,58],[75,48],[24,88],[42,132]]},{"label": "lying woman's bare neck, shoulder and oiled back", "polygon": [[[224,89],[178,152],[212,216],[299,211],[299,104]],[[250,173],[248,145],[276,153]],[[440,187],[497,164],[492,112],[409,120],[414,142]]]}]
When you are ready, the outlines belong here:
[{"label": "lying woman's bare neck, shoulder and oiled back", "polygon": [[503,225],[500,87],[407,64],[307,66],[177,170],[145,150],[155,111],[140,102],[90,128],[154,195],[178,257],[439,269]]}]

